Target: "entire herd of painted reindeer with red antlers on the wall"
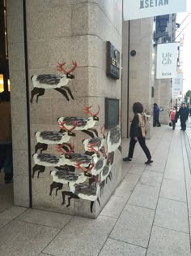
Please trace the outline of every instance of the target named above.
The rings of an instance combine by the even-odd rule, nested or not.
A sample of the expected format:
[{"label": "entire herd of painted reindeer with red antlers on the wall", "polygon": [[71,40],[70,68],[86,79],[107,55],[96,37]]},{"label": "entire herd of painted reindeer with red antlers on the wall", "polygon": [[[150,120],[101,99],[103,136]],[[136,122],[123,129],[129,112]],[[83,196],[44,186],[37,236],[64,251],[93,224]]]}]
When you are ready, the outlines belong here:
[{"label": "entire herd of painted reindeer with red antlers on the wall", "polygon": [[[66,84],[69,79],[74,79],[70,72],[74,71],[77,63],[73,62],[74,67],[69,72],[64,70],[64,65],[65,63],[62,63],[57,66],[59,71],[64,72],[63,76],[32,76],[34,89],[31,102],[35,95],[38,102],[45,89],[57,89],[59,92],[62,89],[66,99],[67,93],[74,98]],[[116,126],[105,132],[102,125],[98,131],[100,106],[85,106],[83,111],[87,117],[59,117],[57,131],[35,132],[32,178],[39,178],[43,172],[48,173],[52,179],[52,183],[49,184],[50,196],[53,193],[56,196],[61,195],[61,205],[66,207],[70,206],[72,199],[87,200],[90,202],[92,213],[94,203],[97,201],[100,205],[100,197],[104,193],[107,181],[112,180],[111,170],[115,152],[121,150],[121,129]],[[81,141],[83,152],[75,150],[75,141],[79,143],[79,133],[76,131],[85,133],[86,137],[88,135],[88,138]],[[51,153],[46,152],[48,149]]]}]

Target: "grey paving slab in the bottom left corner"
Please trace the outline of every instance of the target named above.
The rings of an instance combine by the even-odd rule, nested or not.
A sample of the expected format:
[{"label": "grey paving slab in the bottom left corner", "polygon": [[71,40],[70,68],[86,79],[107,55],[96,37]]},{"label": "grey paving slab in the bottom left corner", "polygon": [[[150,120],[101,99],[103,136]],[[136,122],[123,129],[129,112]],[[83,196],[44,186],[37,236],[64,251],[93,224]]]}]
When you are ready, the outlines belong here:
[{"label": "grey paving slab in the bottom left corner", "polygon": [[0,256],[38,255],[60,232],[57,228],[21,221],[12,221],[0,230]]}]

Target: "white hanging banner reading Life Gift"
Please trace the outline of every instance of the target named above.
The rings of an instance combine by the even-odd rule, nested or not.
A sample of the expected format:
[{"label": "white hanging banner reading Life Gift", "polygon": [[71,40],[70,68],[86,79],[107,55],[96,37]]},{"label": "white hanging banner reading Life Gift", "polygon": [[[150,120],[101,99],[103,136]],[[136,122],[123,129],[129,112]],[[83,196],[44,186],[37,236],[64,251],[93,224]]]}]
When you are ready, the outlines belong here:
[{"label": "white hanging banner reading Life Gift", "polygon": [[156,79],[176,77],[177,57],[177,43],[159,44],[157,46]]}]

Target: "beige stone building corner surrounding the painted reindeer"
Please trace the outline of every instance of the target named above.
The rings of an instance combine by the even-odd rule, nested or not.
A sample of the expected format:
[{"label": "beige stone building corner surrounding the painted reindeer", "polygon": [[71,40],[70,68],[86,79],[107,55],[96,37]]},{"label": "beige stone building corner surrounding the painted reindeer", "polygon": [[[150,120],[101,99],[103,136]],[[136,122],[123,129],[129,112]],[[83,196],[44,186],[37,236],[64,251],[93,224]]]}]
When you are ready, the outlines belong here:
[{"label": "beige stone building corner surrounding the painted reindeer", "polygon": [[[9,7],[12,13],[14,11],[12,7],[17,7],[19,13],[19,15],[9,14],[9,26],[15,24],[16,21],[17,24],[20,24],[19,29],[21,30],[21,33],[16,33],[18,30],[10,33],[9,39],[9,48],[14,46],[10,51],[11,95],[15,94],[19,82],[20,86],[23,86],[23,89],[15,94],[19,98],[19,102],[15,96],[12,97],[13,102],[11,102],[14,113],[12,117],[13,131],[19,130],[18,134],[13,134],[14,150],[17,150],[14,153],[15,197],[19,198],[21,186],[28,190],[28,183],[26,182],[28,180],[26,101],[30,100],[26,99],[25,95],[23,37],[18,38],[18,34],[23,34],[21,2],[16,1],[16,3],[14,2],[15,5],[10,4]],[[92,112],[96,112],[100,106],[99,122],[95,128],[99,132],[99,136],[103,137],[100,131],[101,127],[104,126],[104,98],[117,98],[121,102],[121,80],[112,80],[106,76],[106,41],[111,41],[121,52],[121,4],[122,1],[115,0],[78,1],[77,4],[76,1],[67,0],[26,1],[28,76],[62,75],[61,72],[57,71],[57,62],[66,62],[66,70],[71,68],[72,60],[78,63],[78,67],[73,72],[75,78],[68,83],[74,100],[68,91],[66,93],[69,101],[62,93],[54,89],[45,89],[44,95],[39,97],[38,102],[36,102],[36,94],[30,103],[31,158],[35,153],[36,131],[58,131],[57,118],[59,117],[88,117],[89,115],[83,111],[86,106],[92,106]],[[22,40],[15,42],[17,39]],[[32,90],[33,84],[30,80],[30,94]],[[105,134],[107,132],[109,131],[104,131]],[[84,152],[82,141],[87,138],[88,136],[83,132],[76,132],[76,137],[70,141],[75,146],[75,152]],[[57,154],[57,150],[55,147],[49,146],[44,153]],[[21,170],[16,167],[18,161],[19,166],[22,166],[22,170],[25,171],[22,176],[19,176]],[[35,163],[32,159],[32,168],[34,166]],[[111,170],[112,181],[108,180],[108,184],[105,184],[104,193],[100,198],[101,207],[96,202],[93,213],[90,212],[90,201],[88,200],[73,199],[70,207],[67,208],[66,205],[62,206],[61,191],[58,191],[57,197],[54,192],[52,197],[49,196],[50,184],[53,182],[53,177],[49,176],[51,170],[53,168],[46,167],[45,171],[40,173],[39,178],[36,177],[37,172],[35,172],[32,179],[32,206],[95,218],[121,181],[121,152],[119,150],[115,152]],[[21,184],[17,184],[17,176],[19,179],[26,180],[19,180]],[[15,204],[27,206],[25,197],[28,197],[28,193],[25,193],[23,197],[23,200],[20,198],[20,201],[15,199]]]}]

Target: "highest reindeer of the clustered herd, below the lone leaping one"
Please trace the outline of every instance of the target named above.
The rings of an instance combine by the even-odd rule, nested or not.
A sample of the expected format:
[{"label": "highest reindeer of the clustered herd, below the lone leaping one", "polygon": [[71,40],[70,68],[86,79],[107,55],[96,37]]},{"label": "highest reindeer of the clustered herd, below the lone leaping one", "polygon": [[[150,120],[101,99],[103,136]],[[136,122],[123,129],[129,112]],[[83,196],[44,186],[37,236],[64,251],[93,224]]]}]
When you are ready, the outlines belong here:
[{"label": "highest reindeer of the clustered herd, below the lone leaping one", "polygon": [[93,129],[96,122],[99,121],[98,114],[100,113],[100,106],[98,105],[98,111],[96,113],[92,113],[90,111],[92,106],[86,106],[84,111],[86,114],[90,114],[90,117],[60,117],[57,119],[59,124],[59,128],[72,132],[72,131],[82,131],[87,133],[89,136],[94,137],[93,132],[96,133],[98,137],[98,132],[96,129]]}]

